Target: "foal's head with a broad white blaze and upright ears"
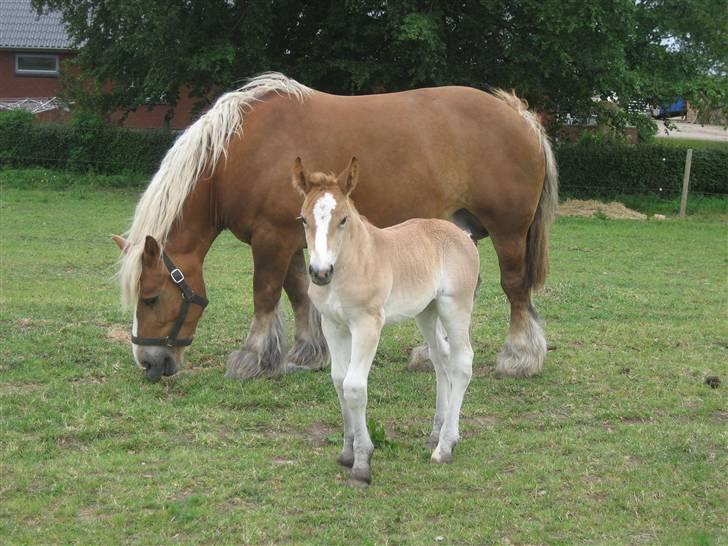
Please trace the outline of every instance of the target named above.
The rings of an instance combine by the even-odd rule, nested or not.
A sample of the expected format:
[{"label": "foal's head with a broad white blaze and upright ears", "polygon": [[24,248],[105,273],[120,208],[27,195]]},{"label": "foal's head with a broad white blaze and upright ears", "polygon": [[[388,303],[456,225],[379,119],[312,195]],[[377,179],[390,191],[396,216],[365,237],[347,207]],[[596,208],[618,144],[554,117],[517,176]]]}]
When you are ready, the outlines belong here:
[{"label": "foal's head with a broad white blaze and upright ears", "polygon": [[301,222],[306,231],[308,274],[314,284],[331,282],[334,265],[341,251],[349,216],[356,214],[349,195],[359,178],[359,162],[351,158],[339,176],[307,173],[300,157],[293,164],[293,186],[303,196]]}]

